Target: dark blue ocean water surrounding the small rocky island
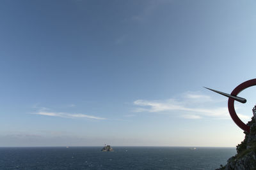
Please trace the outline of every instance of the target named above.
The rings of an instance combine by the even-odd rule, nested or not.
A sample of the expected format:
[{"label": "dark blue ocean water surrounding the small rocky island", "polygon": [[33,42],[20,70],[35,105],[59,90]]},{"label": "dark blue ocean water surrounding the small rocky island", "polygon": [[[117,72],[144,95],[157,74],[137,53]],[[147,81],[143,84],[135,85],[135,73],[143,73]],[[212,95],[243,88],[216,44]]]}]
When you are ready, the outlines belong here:
[{"label": "dark blue ocean water surrounding the small rocky island", "polygon": [[0,169],[216,169],[236,148],[188,147],[0,148]]}]

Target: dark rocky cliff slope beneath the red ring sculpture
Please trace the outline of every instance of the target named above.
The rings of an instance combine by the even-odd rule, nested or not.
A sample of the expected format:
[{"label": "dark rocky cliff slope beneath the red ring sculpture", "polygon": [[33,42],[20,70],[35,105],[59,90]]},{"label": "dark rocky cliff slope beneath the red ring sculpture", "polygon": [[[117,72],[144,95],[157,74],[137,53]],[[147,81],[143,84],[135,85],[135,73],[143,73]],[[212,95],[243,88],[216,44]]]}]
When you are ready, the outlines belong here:
[{"label": "dark rocky cliff slope beneath the red ring sculpture", "polygon": [[247,170],[256,169],[256,120],[252,118],[252,121],[247,124],[250,126],[250,133],[244,132],[245,138],[241,144],[236,146],[237,154],[227,160],[227,165],[218,169],[237,169]]}]

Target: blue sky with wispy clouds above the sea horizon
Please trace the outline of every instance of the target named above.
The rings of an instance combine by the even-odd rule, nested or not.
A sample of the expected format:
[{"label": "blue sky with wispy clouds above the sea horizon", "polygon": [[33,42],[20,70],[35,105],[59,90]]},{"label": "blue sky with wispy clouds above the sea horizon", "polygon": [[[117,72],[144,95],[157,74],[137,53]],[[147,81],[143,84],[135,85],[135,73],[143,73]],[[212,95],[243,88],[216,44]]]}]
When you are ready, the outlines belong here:
[{"label": "blue sky with wispy clouds above the sea horizon", "polygon": [[[230,146],[255,1],[1,1],[0,146]],[[256,88],[235,102],[252,117]]]}]

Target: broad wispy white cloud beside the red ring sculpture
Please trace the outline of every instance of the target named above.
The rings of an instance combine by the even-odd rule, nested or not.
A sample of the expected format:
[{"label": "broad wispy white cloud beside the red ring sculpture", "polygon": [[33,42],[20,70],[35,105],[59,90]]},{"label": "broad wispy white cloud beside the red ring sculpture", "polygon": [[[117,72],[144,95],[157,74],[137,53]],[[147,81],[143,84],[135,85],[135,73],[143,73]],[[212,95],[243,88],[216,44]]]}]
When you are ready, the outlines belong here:
[{"label": "broad wispy white cloud beside the red ring sculpture", "polygon": [[[229,118],[228,108],[214,107],[216,101],[210,96],[200,94],[200,92],[186,92],[181,97],[167,99],[163,101],[136,100],[134,105],[139,106],[135,112],[151,113],[175,113],[183,118]],[[241,118],[250,118],[246,115],[239,115]]]}]

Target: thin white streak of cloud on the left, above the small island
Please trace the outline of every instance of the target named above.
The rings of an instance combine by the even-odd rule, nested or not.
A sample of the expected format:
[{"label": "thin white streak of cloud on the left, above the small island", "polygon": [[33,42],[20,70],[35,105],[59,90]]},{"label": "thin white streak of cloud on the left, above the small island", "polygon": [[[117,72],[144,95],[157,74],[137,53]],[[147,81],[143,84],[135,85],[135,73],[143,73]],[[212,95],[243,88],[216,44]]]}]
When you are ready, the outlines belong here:
[{"label": "thin white streak of cloud on the left, above the small island", "polygon": [[44,115],[49,117],[63,117],[63,118],[92,118],[97,120],[105,120],[106,118],[95,117],[92,115],[84,115],[81,113],[63,113],[63,112],[49,112],[49,111],[38,111],[37,113],[32,113],[34,115]]}]

